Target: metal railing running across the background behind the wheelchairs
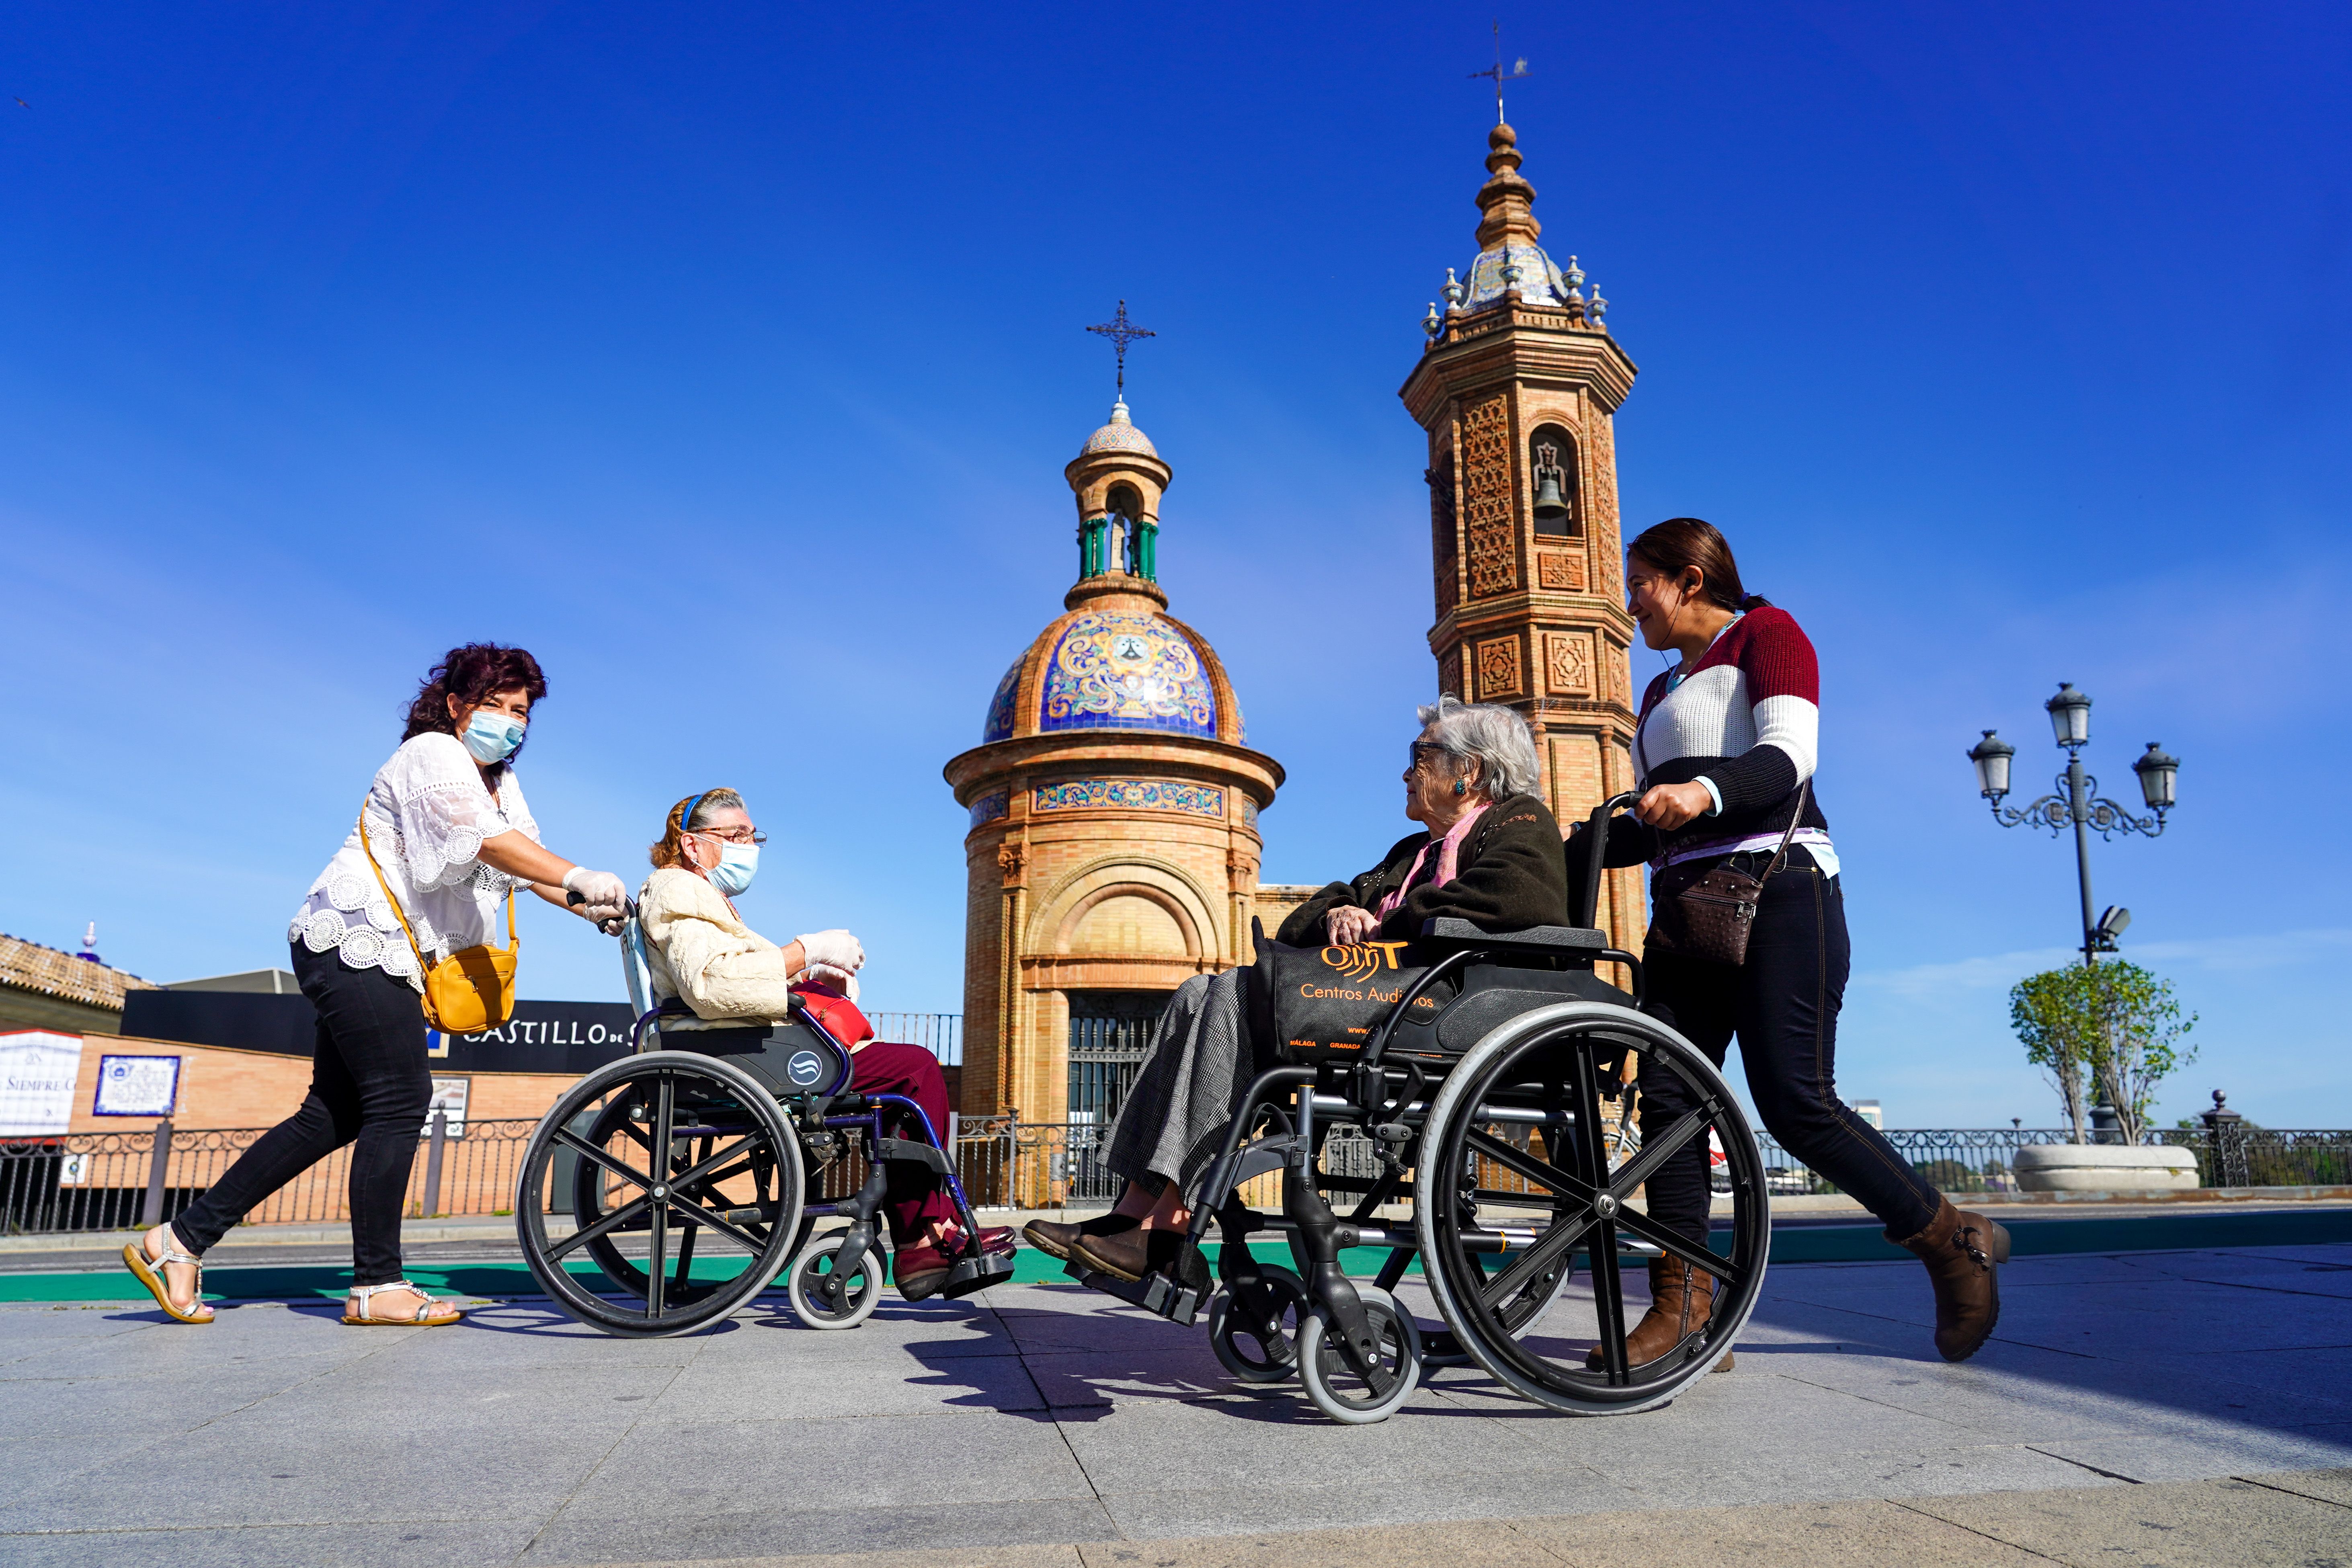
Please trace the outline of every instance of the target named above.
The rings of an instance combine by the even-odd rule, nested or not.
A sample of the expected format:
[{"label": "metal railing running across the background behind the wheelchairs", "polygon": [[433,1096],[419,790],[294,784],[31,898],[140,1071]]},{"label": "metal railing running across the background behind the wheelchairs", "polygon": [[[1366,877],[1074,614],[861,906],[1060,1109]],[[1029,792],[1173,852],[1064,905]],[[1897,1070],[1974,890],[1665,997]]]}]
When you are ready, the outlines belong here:
[{"label": "metal railing running across the background behind the wheelchairs", "polygon": [[[938,1013],[931,1013],[938,1018]],[[953,1018],[953,1013],[946,1013]],[[515,1171],[532,1138],[532,1121],[466,1121],[430,1133],[409,1171],[409,1218],[503,1215],[515,1201]],[[981,1208],[1101,1208],[1120,1197],[1120,1178],[1103,1161],[1110,1128],[1101,1121],[1018,1121],[957,1117],[955,1166],[964,1192]],[[153,1225],[183,1211],[268,1128],[71,1133],[0,1140],[0,1234],[96,1232]],[[1496,1128],[1524,1143],[1529,1128]],[[1541,1138],[1541,1133],[1534,1133]],[[1886,1140],[1945,1192],[2016,1190],[2016,1152],[2027,1145],[2070,1143],[2058,1128],[1896,1128]],[[1797,1164],[1773,1138],[1759,1138],[1773,1194],[1835,1192]],[[2204,1187],[2340,1187],[2352,1185],[2352,1131],[2274,1131],[2225,1126],[2166,1128],[2147,1143],[2197,1154]],[[1334,1128],[1322,1171],[1350,1180],[1378,1173],[1378,1147],[1359,1128]],[[809,1182],[816,1199],[844,1199],[866,1180],[863,1157],[844,1157]],[[1272,1175],[1244,1190],[1272,1204]],[[1524,1180],[1482,1159],[1479,1185],[1526,1190]],[[249,1225],[339,1222],[350,1218],[350,1150],[336,1150],[247,1215]]]}]

